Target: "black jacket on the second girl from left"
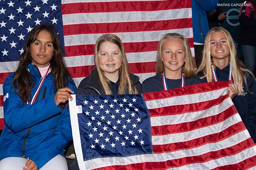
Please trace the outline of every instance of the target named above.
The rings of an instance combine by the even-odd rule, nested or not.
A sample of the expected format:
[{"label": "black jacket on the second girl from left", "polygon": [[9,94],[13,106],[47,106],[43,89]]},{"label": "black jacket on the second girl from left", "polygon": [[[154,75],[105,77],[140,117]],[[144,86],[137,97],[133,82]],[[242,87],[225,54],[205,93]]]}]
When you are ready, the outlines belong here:
[{"label": "black jacket on the second girl from left", "polygon": [[[132,82],[132,85],[136,86],[138,94],[141,93],[141,84],[139,81],[139,77],[135,76],[134,74],[130,74],[130,79]],[[117,94],[118,88],[119,88],[119,80],[114,83],[110,82],[110,89],[112,91],[112,94]],[[77,94],[88,94],[88,95],[97,95],[97,94],[105,94],[105,91],[100,83],[100,79],[97,74],[97,70],[93,69],[91,71],[90,76],[87,76],[84,78],[77,89]],[[128,94],[128,88],[125,90],[125,94]]]}]

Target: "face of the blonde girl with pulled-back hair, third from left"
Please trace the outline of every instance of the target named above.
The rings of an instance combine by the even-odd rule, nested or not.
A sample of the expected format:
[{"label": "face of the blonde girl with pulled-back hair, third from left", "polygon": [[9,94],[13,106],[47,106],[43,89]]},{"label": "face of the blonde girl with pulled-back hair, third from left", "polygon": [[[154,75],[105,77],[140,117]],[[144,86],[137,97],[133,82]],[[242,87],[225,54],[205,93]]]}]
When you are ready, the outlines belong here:
[{"label": "face of the blonde girl with pulled-back hair, third from left", "polygon": [[185,47],[182,39],[167,37],[162,44],[162,59],[166,75],[181,76],[185,61]]}]

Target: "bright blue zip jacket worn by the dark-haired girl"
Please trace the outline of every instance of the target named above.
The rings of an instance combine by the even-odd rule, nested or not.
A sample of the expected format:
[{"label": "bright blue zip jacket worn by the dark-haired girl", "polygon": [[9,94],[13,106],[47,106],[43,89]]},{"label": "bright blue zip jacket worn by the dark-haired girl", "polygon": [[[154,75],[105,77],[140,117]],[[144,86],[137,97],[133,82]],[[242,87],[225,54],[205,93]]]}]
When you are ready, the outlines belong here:
[{"label": "bright blue zip jacket worn by the dark-haired girl", "polygon": [[[35,65],[27,66],[35,83],[31,97],[37,90],[41,74]],[[3,85],[5,126],[0,137],[0,160],[6,157],[29,158],[40,169],[72,140],[68,109],[56,106],[56,89],[53,74],[49,73],[33,105],[23,104],[13,87],[14,73]],[[76,91],[75,83],[69,78],[69,88]],[[7,97],[8,96],[8,97]]]}]

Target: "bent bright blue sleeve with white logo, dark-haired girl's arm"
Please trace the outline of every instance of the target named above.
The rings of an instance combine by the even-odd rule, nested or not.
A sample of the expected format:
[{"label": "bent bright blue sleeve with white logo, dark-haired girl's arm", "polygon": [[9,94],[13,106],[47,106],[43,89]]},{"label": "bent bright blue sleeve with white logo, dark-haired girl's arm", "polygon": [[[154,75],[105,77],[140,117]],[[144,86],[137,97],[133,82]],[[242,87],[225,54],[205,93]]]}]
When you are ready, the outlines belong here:
[{"label": "bent bright blue sleeve with white logo, dark-haired girl's arm", "polygon": [[3,102],[4,120],[13,132],[22,131],[61,112],[54,96],[33,105],[23,104],[10,77],[3,85],[3,95],[6,96]]}]

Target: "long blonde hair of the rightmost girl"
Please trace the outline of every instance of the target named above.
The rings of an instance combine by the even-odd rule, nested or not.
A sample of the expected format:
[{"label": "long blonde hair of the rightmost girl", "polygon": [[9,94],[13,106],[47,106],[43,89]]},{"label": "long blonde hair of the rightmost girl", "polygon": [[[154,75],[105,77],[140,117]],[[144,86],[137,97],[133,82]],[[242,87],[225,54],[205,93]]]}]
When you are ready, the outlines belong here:
[{"label": "long blonde hair of the rightmost girl", "polygon": [[[212,61],[211,61],[211,52],[210,52],[210,38],[212,33],[215,32],[222,32],[225,34],[227,42],[228,42],[228,47],[230,50],[230,56],[229,56],[229,62],[231,64],[231,72],[232,72],[232,78],[234,80],[234,84],[238,86],[238,94],[244,95],[243,92],[243,82],[245,82],[247,91],[249,91],[248,86],[247,86],[247,80],[246,80],[246,73],[250,73],[253,76],[253,73],[244,68],[244,64],[237,59],[237,49],[234,43],[234,40],[232,39],[231,34],[226,30],[225,28],[222,27],[213,27],[209,32],[207,33],[205,37],[205,43],[204,43],[204,48],[203,48],[203,57],[200,66],[197,68],[197,72],[203,71],[204,76],[201,78],[207,79],[207,82],[212,82],[213,81],[213,76],[212,76]],[[213,67],[215,68],[214,64]],[[254,77],[254,76],[253,76]],[[255,77],[254,77],[255,79]]]}]

